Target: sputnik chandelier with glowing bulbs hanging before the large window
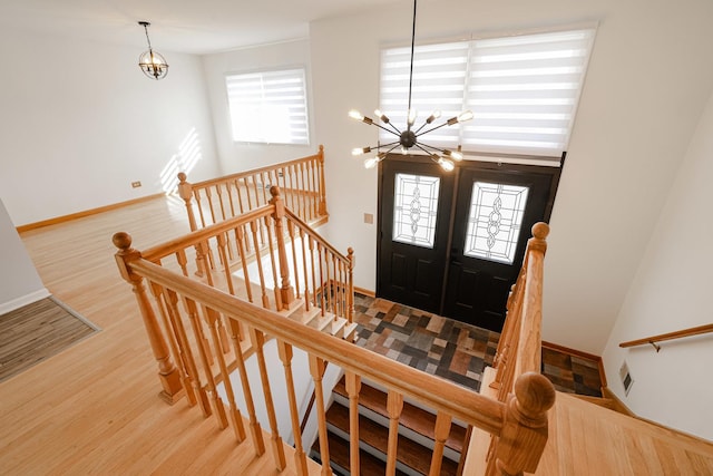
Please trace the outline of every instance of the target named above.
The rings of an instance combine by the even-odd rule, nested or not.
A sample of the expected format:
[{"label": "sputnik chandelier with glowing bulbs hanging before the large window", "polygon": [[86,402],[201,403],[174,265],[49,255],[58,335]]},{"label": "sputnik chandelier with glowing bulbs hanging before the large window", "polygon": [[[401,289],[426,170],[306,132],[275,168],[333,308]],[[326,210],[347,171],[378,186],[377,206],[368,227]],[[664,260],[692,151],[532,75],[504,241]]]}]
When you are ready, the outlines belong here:
[{"label": "sputnik chandelier with glowing bulbs hanging before the large window", "polygon": [[[472,119],[472,113],[470,110],[466,110],[461,114],[459,114],[458,116],[451,117],[450,119],[438,124],[438,125],[432,125],[436,119],[440,118],[441,113],[440,110],[434,110],[433,113],[431,113],[430,116],[428,116],[426,118],[426,120],[423,122],[423,124],[418,127],[414,128],[414,124],[416,124],[416,119],[417,119],[417,111],[414,109],[411,108],[411,89],[412,89],[412,85],[413,85],[413,49],[414,49],[414,42],[416,42],[416,7],[417,7],[417,0],[413,0],[413,27],[411,29],[411,65],[410,65],[410,69],[409,69],[409,105],[408,105],[408,109],[407,109],[407,126],[404,130],[399,129],[397,126],[394,126],[390,120],[389,117],[387,117],[384,114],[381,113],[381,110],[377,109],[374,110],[374,115],[377,116],[377,120],[372,119],[371,117],[367,117],[364,115],[362,115],[360,111],[358,110],[350,110],[349,111],[349,116],[353,119],[360,120],[364,124],[368,124],[370,126],[377,126],[382,130],[385,130],[389,134],[392,134],[397,140],[393,140],[391,143],[387,143],[387,144],[380,144],[377,147],[363,147],[363,148],[354,148],[352,150],[352,155],[363,155],[363,154],[369,154],[371,153],[374,148],[375,148],[375,155],[373,157],[369,157],[364,159],[364,167],[367,168],[373,168],[377,166],[377,164],[379,164],[381,161],[383,161],[387,155],[389,153],[391,153],[392,150],[394,150],[395,148],[400,147],[401,148],[401,153],[402,154],[407,154],[409,152],[409,149],[411,148],[417,148],[423,153],[426,153],[431,161],[433,161],[434,163],[437,163],[438,165],[441,166],[442,169],[450,172],[455,168],[455,164],[453,161],[460,162],[462,161],[463,156],[460,153],[460,146],[458,146],[457,150],[450,150],[450,149],[446,149],[446,148],[440,148],[440,147],[434,147],[428,144],[424,144],[421,140],[421,136],[433,132],[436,129],[440,129],[441,127],[445,126],[452,126],[455,124],[459,124],[459,123],[463,123],[466,120],[470,120]],[[382,124],[379,124],[379,120]],[[385,152],[381,152],[381,149],[384,148],[387,149]],[[439,155],[440,153],[440,155]]]}]

